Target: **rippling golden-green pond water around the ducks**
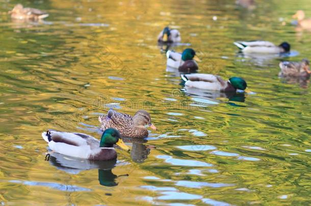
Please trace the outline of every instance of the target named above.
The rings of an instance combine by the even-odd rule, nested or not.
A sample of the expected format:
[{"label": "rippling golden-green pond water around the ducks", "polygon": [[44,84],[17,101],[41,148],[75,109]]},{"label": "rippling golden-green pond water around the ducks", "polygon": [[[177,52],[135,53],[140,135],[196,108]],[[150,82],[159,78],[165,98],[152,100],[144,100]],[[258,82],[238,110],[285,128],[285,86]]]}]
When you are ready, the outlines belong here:
[{"label": "rippling golden-green pond water around the ducks", "polygon": [[[47,11],[12,22],[17,3]],[[310,204],[308,82],[278,78],[280,60],[311,58],[311,33],[291,16],[308,0],[2,1],[0,8],[0,203],[2,205]],[[214,18],[213,18],[214,17]],[[252,94],[186,91],[157,45],[162,28],[182,33],[199,72],[243,77]],[[236,40],[291,43],[292,54],[237,54]],[[191,94],[190,94],[191,93]],[[127,141],[117,161],[51,154],[46,129],[100,137],[112,107],[150,112],[157,131]]]}]

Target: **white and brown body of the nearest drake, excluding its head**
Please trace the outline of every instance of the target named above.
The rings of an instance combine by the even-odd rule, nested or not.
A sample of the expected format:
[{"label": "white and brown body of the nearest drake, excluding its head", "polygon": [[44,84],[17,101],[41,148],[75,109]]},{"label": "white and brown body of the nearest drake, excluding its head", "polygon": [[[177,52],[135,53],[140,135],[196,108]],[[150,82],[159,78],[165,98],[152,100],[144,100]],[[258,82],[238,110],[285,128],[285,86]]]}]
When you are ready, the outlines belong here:
[{"label": "white and brown body of the nearest drake, excluding its head", "polygon": [[[62,155],[90,160],[105,160],[103,153],[107,153],[107,158],[116,156],[114,148],[99,148],[99,140],[90,135],[59,131],[49,132],[50,134],[42,132],[42,138],[48,142],[51,150]],[[50,140],[48,135],[50,135]]]}]

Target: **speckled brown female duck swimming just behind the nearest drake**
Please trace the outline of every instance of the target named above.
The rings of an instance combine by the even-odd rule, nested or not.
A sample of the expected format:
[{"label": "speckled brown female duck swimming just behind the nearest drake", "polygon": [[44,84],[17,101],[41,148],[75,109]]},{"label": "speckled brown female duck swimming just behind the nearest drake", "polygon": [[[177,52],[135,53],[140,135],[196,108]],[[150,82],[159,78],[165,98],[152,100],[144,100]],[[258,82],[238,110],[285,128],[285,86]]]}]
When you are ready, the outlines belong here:
[{"label": "speckled brown female duck swimming just behind the nearest drake", "polygon": [[123,137],[143,138],[148,136],[146,126],[153,130],[157,128],[151,123],[150,114],[145,110],[138,110],[132,117],[110,109],[107,115],[98,117],[101,130],[116,128]]}]

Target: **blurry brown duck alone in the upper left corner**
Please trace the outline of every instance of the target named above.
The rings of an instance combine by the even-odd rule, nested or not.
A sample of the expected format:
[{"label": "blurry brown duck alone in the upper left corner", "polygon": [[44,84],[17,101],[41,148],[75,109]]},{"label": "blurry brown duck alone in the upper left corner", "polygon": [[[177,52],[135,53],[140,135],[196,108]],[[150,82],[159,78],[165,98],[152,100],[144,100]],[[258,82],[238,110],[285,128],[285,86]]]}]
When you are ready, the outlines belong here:
[{"label": "blurry brown duck alone in the upper left corner", "polygon": [[9,14],[11,14],[11,18],[13,19],[28,19],[33,21],[48,17],[46,12],[39,9],[23,8],[21,4],[17,4],[12,11],[9,11]]}]

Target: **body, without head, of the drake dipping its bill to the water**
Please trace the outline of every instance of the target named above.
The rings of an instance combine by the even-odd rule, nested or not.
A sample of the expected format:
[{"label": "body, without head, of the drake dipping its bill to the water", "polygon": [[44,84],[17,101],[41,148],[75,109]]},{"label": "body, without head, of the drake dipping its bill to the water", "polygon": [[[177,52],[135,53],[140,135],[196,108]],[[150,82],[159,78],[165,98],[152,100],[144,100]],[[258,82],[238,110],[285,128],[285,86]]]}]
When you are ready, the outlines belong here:
[{"label": "body, without head, of the drake dipping its bill to the water", "polygon": [[213,91],[225,91],[226,88],[232,87],[228,81],[213,74],[183,74],[181,77],[186,81],[185,86],[187,87]]}]

